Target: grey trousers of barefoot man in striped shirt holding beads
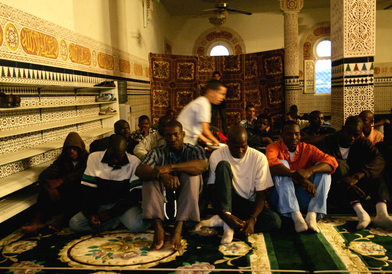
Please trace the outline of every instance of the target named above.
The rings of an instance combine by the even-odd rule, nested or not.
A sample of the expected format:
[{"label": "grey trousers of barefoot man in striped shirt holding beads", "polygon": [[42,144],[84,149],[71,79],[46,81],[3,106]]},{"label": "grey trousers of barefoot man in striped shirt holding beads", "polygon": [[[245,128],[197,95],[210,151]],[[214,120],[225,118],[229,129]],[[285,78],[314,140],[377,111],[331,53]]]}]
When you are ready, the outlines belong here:
[{"label": "grey trousers of barefoot man in striped shirt holding beads", "polygon": [[[177,215],[175,221],[200,221],[199,212],[199,195],[203,189],[203,178],[201,175],[190,175],[185,172],[181,173],[179,178],[180,189],[176,190],[177,197]],[[163,211],[163,183],[158,180],[143,182],[142,188],[142,207],[143,220],[161,219],[165,221]],[[174,195],[171,190],[166,190],[166,197],[169,203],[166,203],[166,212],[169,218],[173,216]],[[169,211],[171,214],[169,214]]]}]

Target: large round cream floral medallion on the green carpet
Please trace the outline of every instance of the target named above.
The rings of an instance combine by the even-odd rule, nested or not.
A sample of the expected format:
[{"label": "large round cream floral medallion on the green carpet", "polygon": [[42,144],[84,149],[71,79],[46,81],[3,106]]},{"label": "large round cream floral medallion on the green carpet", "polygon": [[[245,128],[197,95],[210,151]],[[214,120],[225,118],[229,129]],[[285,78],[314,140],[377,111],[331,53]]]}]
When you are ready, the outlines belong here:
[{"label": "large round cream floral medallion on the green carpet", "polygon": [[183,249],[172,250],[165,242],[160,250],[150,250],[154,232],[131,233],[127,230],[107,231],[101,237],[83,236],[69,242],[60,250],[60,260],[71,267],[131,267],[148,268],[158,263],[172,261],[185,252],[187,241],[182,239]]}]

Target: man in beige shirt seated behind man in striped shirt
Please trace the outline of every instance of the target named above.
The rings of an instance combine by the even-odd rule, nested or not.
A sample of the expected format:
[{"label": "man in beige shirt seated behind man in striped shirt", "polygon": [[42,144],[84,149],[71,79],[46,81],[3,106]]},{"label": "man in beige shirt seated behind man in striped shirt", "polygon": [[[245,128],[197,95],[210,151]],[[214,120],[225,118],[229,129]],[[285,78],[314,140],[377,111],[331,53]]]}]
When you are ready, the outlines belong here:
[{"label": "man in beige shirt seated behind man in striped shirt", "polygon": [[140,143],[138,143],[133,150],[133,153],[143,161],[147,152],[149,152],[154,147],[159,147],[161,145],[166,145],[165,138],[163,138],[165,125],[170,121],[169,116],[162,116],[159,118],[158,131],[150,134],[144,138]]}]

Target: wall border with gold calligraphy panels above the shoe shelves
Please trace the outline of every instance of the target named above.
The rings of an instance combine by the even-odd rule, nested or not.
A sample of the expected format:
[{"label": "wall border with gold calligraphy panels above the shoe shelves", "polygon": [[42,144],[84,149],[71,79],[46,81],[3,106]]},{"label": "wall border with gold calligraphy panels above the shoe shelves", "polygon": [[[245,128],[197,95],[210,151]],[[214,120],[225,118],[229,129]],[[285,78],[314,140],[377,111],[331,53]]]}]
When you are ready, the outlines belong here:
[{"label": "wall border with gold calligraphy panels above the shoe shelves", "polygon": [[[149,80],[147,60],[4,4],[0,4],[0,30],[2,59]],[[10,74],[24,75],[22,71]],[[41,76],[45,79],[45,73]]]}]

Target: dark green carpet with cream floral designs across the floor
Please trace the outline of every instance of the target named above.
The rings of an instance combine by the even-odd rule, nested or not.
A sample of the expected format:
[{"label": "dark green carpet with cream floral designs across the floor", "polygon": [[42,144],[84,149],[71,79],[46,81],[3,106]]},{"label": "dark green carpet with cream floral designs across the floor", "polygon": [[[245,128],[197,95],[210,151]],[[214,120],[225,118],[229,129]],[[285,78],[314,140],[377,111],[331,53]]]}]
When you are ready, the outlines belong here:
[{"label": "dark green carpet with cream floral designs across the floor", "polygon": [[297,233],[289,222],[269,233],[235,234],[225,245],[220,244],[222,227],[184,229],[179,251],[168,242],[151,251],[153,230],[108,230],[103,237],[83,236],[69,228],[58,233],[17,230],[0,240],[0,274],[67,273],[64,269],[73,267],[80,274],[135,274],[147,268],[165,274],[207,274],[221,269],[392,271],[392,231],[372,225],[356,230],[357,223],[356,217],[327,217],[318,221],[320,233]]}]

